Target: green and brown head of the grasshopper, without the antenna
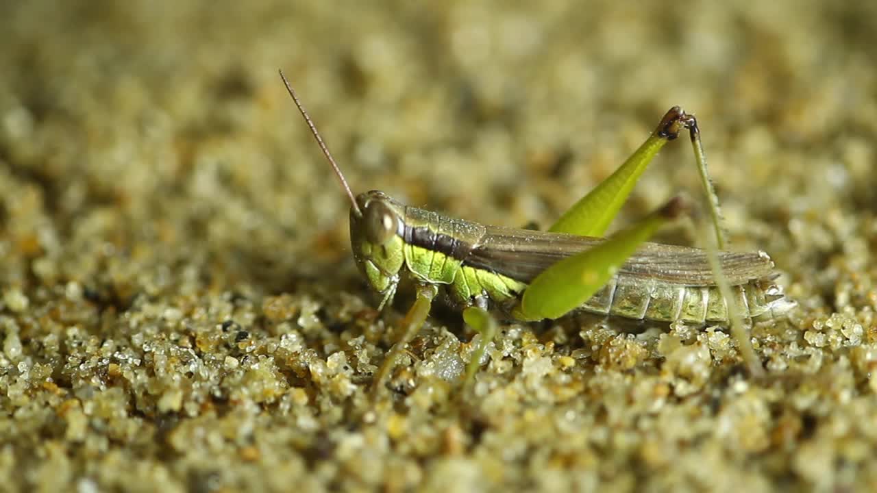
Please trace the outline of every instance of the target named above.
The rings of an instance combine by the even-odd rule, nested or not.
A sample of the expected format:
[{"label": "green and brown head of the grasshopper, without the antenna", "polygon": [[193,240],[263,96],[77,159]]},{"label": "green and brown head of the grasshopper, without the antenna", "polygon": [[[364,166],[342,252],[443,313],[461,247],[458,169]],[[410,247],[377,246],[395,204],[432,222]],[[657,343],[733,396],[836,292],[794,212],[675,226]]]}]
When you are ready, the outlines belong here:
[{"label": "green and brown head of the grasshopper, without the antenna", "polygon": [[403,204],[377,190],[356,196],[356,207],[350,210],[353,258],[372,288],[383,295],[379,310],[396,294],[405,263],[404,211]]}]

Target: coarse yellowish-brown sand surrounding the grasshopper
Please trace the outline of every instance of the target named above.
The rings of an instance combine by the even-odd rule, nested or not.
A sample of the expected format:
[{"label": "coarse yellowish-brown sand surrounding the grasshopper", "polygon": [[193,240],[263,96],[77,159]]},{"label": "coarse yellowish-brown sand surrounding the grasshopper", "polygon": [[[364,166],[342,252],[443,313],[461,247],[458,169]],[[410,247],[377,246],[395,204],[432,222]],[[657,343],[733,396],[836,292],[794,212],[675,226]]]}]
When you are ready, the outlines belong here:
[{"label": "coarse yellowish-brown sand surrounding the grasshopper", "polygon": [[[77,6],[78,4],[78,6]],[[20,2],[0,15],[0,489],[877,489],[877,4]],[[503,325],[353,264],[353,189],[542,227],[664,111],[801,309],[758,327]],[[683,190],[674,143],[625,206]],[[695,242],[681,225],[660,239]]]}]

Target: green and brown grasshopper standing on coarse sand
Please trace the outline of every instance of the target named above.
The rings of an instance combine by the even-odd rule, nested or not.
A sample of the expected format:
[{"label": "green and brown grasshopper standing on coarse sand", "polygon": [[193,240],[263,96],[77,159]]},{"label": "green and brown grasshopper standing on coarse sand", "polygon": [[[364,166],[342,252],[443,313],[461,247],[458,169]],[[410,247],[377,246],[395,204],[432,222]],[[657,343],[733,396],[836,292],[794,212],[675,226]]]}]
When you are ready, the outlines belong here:
[{"label": "green and brown grasshopper standing on coarse sand", "polygon": [[[439,287],[481,332],[467,366],[470,381],[496,332],[490,310],[507,318],[534,321],[572,311],[635,320],[681,321],[742,326],[779,317],[794,302],[774,282],[774,262],[764,252],[724,251],[718,199],[707,175],[700,130],[694,115],[675,106],[615,173],[598,184],[547,232],[480,225],[401,204],[378,190],[354,196],[286,76],[298,110],[350,198],[353,257],[371,287],[389,304],[403,275],[413,280],[417,298],[403,318],[404,333],[374,375],[383,384],[396,358],[429,316]],[[715,244],[706,250],[646,240],[686,209],[679,197],[638,223],[601,238],[631,194],[634,184],[668,141],[687,129],[700,171]],[[742,333],[741,351],[754,359]],[[750,353],[747,357],[746,350]],[[757,368],[753,368],[757,367]],[[752,365],[761,370],[760,363]]]}]

